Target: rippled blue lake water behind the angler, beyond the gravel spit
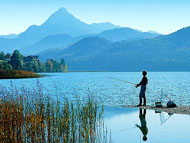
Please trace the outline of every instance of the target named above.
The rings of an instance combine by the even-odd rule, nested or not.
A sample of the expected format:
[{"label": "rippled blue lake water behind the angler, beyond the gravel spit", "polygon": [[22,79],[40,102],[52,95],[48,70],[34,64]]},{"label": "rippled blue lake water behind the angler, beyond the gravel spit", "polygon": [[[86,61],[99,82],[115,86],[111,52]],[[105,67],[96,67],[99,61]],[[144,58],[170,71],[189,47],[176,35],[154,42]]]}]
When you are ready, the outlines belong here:
[{"label": "rippled blue lake water behind the angler, beyond the gravel spit", "polygon": [[[93,94],[97,100],[109,106],[138,104],[140,89],[116,79],[139,83],[142,78],[140,72],[71,72],[47,75],[50,76],[40,78],[39,81],[52,98],[63,100],[65,96],[73,99],[76,94],[86,98],[88,94]],[[161,90],[178,105],[190,105],[190,72],[149,72],[148,79],[149,105],[160,100]],[[9,87],[10,81],[14,85],[29,88],[36,87],[37,83],[37,79],[14,79],[0,80],[0,85]]]}]

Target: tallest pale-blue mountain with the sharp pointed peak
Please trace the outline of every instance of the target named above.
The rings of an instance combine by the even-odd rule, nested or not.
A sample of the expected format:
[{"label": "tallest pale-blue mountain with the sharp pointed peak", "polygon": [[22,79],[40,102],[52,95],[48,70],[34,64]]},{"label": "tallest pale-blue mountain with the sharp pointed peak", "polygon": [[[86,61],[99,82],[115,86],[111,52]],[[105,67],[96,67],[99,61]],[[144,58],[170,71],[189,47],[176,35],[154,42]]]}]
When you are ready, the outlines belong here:
[{"label": "tallest pale-blue mountain with the sharp pointed peak", "polygon": [[30,39],[28,43],[31,44],[31,42],[37,42],[48,35],[67,34],[70,36],[79,36],[92,33],[96,33],[96,31],[90,25],[75,18],[65,8],[60,8],[42,25],[29,27],[19,38],[27,41]]}]

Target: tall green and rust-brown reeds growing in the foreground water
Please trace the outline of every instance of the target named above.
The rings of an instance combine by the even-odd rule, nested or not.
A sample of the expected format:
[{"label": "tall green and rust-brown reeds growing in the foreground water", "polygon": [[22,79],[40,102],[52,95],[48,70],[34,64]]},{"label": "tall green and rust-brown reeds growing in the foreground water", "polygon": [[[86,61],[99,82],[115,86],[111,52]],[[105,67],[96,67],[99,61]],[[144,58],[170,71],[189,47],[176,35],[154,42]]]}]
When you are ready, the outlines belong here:
[{"label": "tall green and rust-brown reeds growing in the foreground water", "polygon": [[30,90],[0,88],[0,141],[106,143],[107,131],[103,121],[103,106],[89,96],[80,100],[52,101],[41,85]]}]

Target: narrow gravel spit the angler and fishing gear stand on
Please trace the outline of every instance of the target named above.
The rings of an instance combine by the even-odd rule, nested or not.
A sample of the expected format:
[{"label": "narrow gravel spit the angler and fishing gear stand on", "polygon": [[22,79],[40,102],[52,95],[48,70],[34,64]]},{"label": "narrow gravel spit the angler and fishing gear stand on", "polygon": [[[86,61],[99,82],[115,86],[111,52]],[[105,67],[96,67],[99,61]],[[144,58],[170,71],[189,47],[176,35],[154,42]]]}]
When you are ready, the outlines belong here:
[{"label": "narrow gravel spit the angler and fishing gear stand on", "polygon": [[172,114],[185,114],[190,115],[190,106],[177,106],[175,108],[167,108],[166,106],[163,106],[162,108],[158,108],[155,106],[121,106],[123,108],[142,108],[142,109],[152,109],[155,110],[155,112],[167,112]]}]

